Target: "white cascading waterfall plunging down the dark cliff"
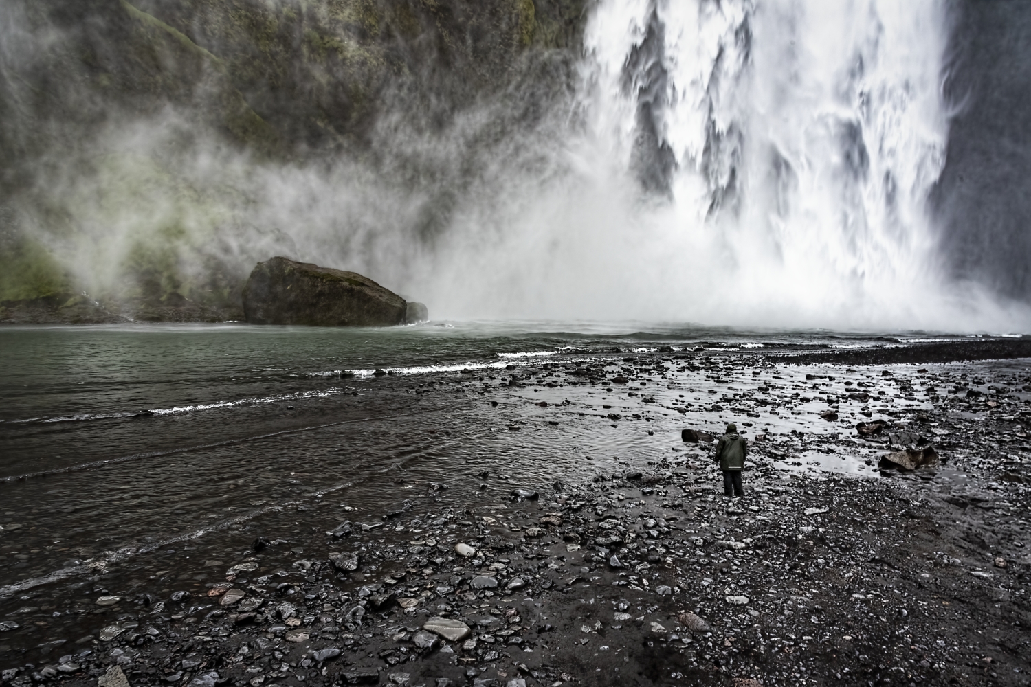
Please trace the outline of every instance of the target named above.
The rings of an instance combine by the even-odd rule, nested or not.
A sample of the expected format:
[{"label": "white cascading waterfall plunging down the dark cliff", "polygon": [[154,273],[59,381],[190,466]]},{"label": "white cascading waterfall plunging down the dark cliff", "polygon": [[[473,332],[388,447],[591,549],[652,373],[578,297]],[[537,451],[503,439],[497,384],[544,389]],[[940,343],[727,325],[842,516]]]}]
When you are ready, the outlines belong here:
[{"label": "white cascading waterfall plunging down the dark cliff", "polygon": [[927,323],[946,28],[917,0],[602,0],[581,154],[653,199],[643,240],[697,317]]}]

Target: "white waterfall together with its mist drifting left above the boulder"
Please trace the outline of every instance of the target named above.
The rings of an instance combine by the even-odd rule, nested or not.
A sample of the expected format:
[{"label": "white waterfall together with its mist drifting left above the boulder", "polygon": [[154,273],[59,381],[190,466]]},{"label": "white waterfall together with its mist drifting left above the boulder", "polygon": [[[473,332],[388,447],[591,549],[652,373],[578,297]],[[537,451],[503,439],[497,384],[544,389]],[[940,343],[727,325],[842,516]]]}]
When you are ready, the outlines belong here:
[{"label": "white waterfall together with its mist drifting left above the boulder", "polygon": [[112,116],[16,209],[97,296],[142,253],[198,283],[287,254],[434,318],[1028,331],[929,211],[952,30],[933,2],[601,0],[567,90],[517,79],[442,127],[387,94],[372,154],[318,162]]}]

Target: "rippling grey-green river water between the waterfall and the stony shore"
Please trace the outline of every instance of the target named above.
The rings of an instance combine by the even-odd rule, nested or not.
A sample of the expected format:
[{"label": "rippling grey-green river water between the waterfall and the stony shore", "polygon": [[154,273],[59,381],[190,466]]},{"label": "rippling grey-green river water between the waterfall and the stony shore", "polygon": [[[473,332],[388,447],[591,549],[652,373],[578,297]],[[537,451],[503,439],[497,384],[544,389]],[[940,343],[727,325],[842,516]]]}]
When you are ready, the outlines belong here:
[{"label": "rippling grey-green river water between the waterfall and the stony shore", "polygon": [[[89,643],[98,595],[138,605],[208,584],[257,537],[289,543],[262,568],[290,570],[325,557],[343,520],[383,526],[413,503],[474,509],[514,487],[543,505],[557,481],[699,467],[705,448],[680,442],[685,426],[826,433],[825,391],[806,389],[855,378],[874,393],[875,371],[824,370],[813,385],[776,354],[954,338],[554,322],[0,329],[0,619],[20,626],[0,653]],[[721,355],[736,363],[689,365]],[[783,410],[753,404],[778,385]],[[874,402],[887,412],[895,400]],[[845,406],[844,424],[861,419]],[[869,475],[868,454],[812,462]]]}]

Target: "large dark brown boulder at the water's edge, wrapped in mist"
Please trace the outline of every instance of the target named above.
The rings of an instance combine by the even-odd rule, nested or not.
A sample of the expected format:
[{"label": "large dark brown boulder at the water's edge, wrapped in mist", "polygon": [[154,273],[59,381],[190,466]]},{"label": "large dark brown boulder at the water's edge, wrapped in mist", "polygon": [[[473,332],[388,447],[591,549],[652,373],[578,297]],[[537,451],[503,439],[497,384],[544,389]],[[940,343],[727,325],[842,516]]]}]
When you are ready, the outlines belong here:
[{"label": "large dark brown boulder at the water's edge, wrapped in mist", "polygon": [[255,324],[391,327],[424,321],[421,303],[407,303],[355,272],[272,257],[258,263],[243,287],[243,313]]}]

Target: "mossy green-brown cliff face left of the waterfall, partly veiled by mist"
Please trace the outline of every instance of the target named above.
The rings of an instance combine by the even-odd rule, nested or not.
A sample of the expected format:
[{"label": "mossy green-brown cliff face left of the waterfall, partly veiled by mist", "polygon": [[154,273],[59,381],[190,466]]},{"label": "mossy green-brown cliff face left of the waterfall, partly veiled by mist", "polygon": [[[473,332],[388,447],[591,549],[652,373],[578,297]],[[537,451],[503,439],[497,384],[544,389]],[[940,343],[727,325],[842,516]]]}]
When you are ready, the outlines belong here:
[{"label": "mossy green-brown cliff face left of the waterfall, partly veiled by mist", "polygon": [[[87,291],[130,316],[176,318],[168,308],[184,299],[207,309],[201,318],[239,316],[256,257],[243,253],[258,248],[230,245],[227,232],[245,224],[238,210],[251,201],[217,174],[187,178],[177,156],[196,161],[214,142],[255,165],[348,160],[402,182],[436,178],[433,161],[388,159],[393,130],[381,123],[406,118],[432,136],[507,98],[494,130],[522,126],[542,108],[518,92],[568,89],[585,3],[3,3],[0,301]],[[160,149],[140,151],[133,136],[160,139]],[[461,183],[431,190],[421,236],[444,221]],[[100,250],[84,268],[80,257]]]}]

